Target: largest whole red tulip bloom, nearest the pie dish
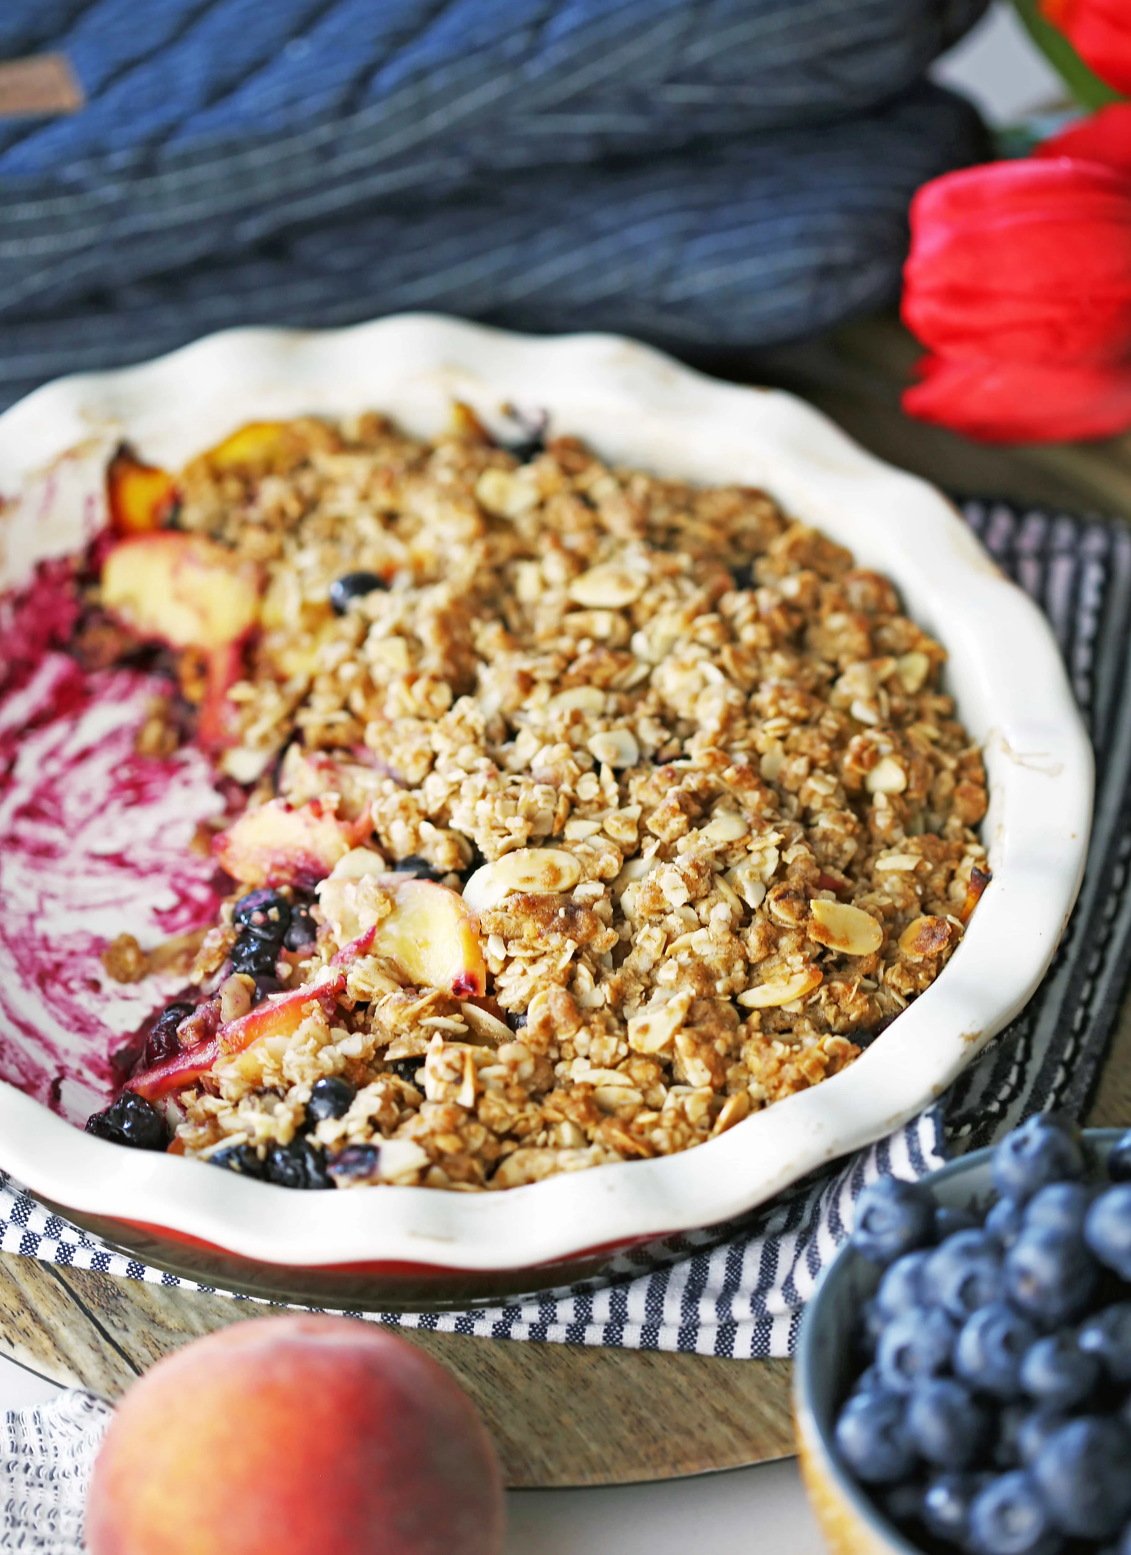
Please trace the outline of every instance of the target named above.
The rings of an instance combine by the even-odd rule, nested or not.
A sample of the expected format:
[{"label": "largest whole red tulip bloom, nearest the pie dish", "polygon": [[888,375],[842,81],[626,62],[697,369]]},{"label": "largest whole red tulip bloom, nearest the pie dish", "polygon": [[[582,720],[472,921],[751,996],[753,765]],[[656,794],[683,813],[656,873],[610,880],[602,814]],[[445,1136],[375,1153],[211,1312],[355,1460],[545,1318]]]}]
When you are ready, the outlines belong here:
[{"label": "largest whole red tulip bloom, nearest the pie dish", "polygon": [[904,409],[993,442],[1131,425],[1131,180],[1069,157],[947,173],[912,204]]}]

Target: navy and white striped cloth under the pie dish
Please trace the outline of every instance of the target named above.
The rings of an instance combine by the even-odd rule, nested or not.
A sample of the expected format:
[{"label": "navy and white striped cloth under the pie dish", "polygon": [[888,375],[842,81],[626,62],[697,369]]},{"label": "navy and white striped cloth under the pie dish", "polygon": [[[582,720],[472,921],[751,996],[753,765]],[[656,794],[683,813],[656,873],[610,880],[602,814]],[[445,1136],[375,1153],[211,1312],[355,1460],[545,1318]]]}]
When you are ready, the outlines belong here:
[{"label": "navy and white striped cloth under the pie dish", "polygon": [[[1083,1112],[1131,961],[1131,532],[1005,504],[965,513],[999,564],[1047,613],[1097,753],[1095,830],[1080,903],[1036,997],[938,1102],[905,1129],[797,1183],[719,1241],[686,1235],[666,1267],[625,1255],[610,1283],[467,1312],[366,1312],[375,1322],[493,1339],[678,1350],[792,1351],[801,1309],[853,1222],[860,1188],[916,1179],[1052,1107]],[[193,1286],[114,1252],[0,1179],[0,1249],[129,1280]],[[233,1297],[233,1300],[243,1300]]]}]

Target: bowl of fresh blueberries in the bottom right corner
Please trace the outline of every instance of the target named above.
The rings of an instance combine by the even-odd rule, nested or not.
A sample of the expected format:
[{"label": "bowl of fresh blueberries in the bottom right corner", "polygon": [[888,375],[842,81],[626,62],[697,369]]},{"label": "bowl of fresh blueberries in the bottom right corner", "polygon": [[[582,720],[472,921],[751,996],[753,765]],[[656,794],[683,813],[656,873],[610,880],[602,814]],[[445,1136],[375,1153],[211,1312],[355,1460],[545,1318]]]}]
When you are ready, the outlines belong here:
[{"label": "bowl of fresh blueberries in the bottom right corner", "polygon": [[865,1188],[793,1395],[843,1555],[1131,1555],[1131,1134],[1038,1115]]}]

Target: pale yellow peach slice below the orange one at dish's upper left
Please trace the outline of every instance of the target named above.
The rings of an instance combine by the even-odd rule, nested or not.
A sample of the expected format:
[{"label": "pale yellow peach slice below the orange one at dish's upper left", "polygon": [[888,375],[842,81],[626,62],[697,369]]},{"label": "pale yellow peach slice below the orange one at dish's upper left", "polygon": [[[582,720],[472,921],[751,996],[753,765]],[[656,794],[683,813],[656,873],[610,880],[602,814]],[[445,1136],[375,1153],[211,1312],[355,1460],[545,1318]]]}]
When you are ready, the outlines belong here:
[{"label": "pale yellow peach slice below the orange one at dish's upper left", "polygon": [[257,624],[260,575],[202,535],[131,535],[103,564],[103,605],[138,638],[212,653]]}]

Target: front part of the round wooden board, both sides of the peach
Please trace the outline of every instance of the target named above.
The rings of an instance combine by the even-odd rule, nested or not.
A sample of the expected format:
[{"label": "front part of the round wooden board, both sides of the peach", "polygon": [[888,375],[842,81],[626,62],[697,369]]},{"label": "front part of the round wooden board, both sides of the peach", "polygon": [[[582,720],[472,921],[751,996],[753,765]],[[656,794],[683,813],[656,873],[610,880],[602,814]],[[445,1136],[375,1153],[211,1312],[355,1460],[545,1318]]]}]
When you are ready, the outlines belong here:
[{"label": "front part of the round wooden board, both sides of the peach", "polygon": [[[101,1398],[177,1345],[263,1312],[0,1253],[0,1351]],[[787,1361],[397,1331],[471,1395],[515,1488],[669,1479],[793,1452]]]}]

